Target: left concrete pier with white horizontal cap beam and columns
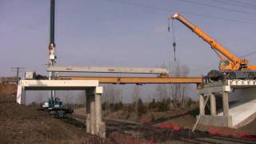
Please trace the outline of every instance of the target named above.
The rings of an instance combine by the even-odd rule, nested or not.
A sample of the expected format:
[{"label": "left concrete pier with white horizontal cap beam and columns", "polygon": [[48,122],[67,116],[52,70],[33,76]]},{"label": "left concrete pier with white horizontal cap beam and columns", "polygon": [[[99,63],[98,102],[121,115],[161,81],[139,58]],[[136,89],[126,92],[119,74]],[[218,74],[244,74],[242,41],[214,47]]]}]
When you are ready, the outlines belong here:
[{"label": "left concrete pier with white horizontal cap beam and columns", "polygon": [[26,104],[26,90],[86,90],[86,132],[105,138],[102,122],[102,86],[97,80],[21,80],[16,102]]}]

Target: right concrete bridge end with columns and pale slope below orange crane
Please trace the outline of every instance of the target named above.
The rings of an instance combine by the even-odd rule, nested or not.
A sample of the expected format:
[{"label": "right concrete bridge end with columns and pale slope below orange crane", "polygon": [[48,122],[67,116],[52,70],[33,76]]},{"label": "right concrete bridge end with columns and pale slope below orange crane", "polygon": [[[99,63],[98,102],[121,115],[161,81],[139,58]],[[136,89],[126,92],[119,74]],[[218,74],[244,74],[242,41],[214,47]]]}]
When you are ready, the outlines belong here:
[{"label": "right concrete bridge end with columns and pale slope below orange crane", "polygon": [[[200,110],[204,109],[204,97],[209,94],[210,115],[203,113],[199,125],[239,128],[256,118],[256,80],[235,79],[198,86]],[[222,99],[222,108],[218,111],[216,97]]]}]

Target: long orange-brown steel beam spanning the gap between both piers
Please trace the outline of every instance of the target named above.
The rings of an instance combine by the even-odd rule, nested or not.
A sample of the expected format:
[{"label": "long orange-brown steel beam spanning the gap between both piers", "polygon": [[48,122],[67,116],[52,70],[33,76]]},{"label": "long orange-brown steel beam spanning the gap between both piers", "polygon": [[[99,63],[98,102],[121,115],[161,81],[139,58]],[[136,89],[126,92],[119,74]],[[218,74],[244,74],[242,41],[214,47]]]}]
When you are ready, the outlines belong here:
[{"label": "long orange-brown steel beam spanning the gap between both piers", "polygon": [[153,78],[153,77],[78,77],[62,76],[62,80],[98,80],[99,83],[114,84],[158,84],[158,83],[202,83],[202,78]]}]

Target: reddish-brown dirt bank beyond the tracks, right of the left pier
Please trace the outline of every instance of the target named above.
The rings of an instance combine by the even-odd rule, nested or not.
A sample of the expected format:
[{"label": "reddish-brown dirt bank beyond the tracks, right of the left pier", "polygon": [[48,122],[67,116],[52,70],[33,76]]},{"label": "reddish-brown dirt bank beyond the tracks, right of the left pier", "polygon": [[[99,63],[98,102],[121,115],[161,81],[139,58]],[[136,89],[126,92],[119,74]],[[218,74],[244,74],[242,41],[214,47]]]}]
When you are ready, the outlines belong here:
[{"label": "reddish-brown dirt bank beyond the tracks, right of the left pier", "polygon": [[[162,126],[163,123],[192,129],[194,123],[196,122],[195,115],[198,112],[194,108],[187,110],[169,110],[166,112],[153,112],[151,114],[143,114],[142,117],[137,117],[136,114],[131,113],[130,117],[126,119],[124,111],[118,110],[117,112],[111,114],[105,114],[105,118],[115,118],[115,119],[126,119],[134,122],[148,122],[150,125]],[[149,121],[151,118],[154,118],[154,121]],[[216,126],[200,126],[198,125],[197,130],[203,131],[220,131],[220,134],[223,135],[233,135],[239,136],[242,134],[256,134],[256,119],[253,122],[250,122],[248,125],[241,127],[240,129],[226,128],[226,127],[216,127]]]}]

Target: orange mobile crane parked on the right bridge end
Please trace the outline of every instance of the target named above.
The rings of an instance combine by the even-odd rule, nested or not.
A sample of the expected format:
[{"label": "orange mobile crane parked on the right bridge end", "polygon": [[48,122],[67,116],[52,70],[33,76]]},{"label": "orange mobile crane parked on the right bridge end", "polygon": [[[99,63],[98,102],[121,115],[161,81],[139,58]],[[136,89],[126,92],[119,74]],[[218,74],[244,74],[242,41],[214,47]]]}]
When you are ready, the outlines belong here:
[{"label": "orange mobile crane parked on the right bridge end", "polygon": [[210,70],[207,74],[207,78],[210,80],[218,81],[220,79],[255,79],[256,78],[256,66],[248,65],[248,60],[246,58],[238,58],[230,51],[226,50],[221,44],[210,38],[203,30],[194,26],[191,22],[183,18],[181,14],[174,14],[173,16],[168,16],[168,19],[177,19],[182,22],[200,38],[210,44],[211,48],[218,54],[221,59],[219,63],[219,70]]}]

